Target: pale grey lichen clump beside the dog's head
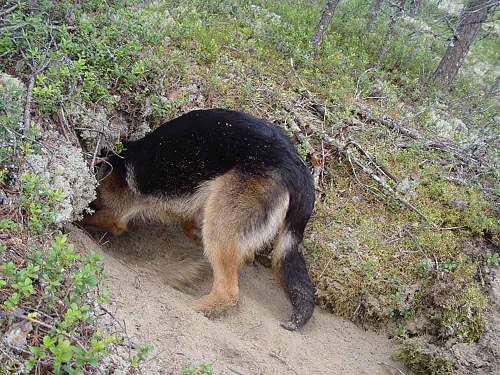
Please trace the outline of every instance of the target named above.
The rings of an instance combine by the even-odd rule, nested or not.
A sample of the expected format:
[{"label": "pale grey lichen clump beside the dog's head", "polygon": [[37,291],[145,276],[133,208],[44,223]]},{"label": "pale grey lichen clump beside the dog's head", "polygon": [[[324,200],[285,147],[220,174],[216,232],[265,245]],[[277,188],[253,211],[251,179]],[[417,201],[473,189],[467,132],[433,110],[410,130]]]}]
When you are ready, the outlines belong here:
[{"label": "pale grey lichen clump beside the dog's head", "polygon": [[95,199],[97,185],[94,175],[83,158],[82,150],[62,140],[59,133],[47,131],[40,140],[44,152],[27,157],[23,167],[63,194],[56,224],[63,225],[81,219],[89,203]]}]

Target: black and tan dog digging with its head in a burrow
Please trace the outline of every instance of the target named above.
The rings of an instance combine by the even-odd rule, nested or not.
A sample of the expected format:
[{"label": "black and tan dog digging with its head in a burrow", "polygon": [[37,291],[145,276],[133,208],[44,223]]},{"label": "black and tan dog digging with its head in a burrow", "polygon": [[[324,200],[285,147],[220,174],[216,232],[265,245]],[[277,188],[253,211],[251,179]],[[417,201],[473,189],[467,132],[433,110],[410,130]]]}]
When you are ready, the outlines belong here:
[{"label": "black and tan dog digging with its head in a burrow", "polygon": [[220,311],[238,300],[238,271],[273,244],[273,268],[292,302],[285,328],[302,327],[314,310],[314,287],[302,254],[314,206],[311,174],[280,128],[223,109],[193,111],[143,139],[124,144],[101,176],[95,214],[84,223],[122,233],[134,217],[196,222],[213,269],[210,294],[196,309]]}]

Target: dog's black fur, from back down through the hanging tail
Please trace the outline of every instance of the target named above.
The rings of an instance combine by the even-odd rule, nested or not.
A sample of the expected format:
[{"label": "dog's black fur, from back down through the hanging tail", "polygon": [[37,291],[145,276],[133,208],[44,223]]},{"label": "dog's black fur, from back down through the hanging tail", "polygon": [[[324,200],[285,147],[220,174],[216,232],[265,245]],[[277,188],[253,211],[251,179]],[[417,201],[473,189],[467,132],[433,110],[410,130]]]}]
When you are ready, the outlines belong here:
[{"label": "dog's black fur, from back down through the hanging tail", "polygon": [[[123,158],[114,156],[110,162],[123,179],[126,163],[130,163],[137,188],[145,195],[188,195],[200,183],[229,170],[239,171],[242,179],[271,173],[278,176],[280,185],[290,194],[285,226],[295,240],[281,261],[282,282],[293,305],[292,321],[287,328],[299,328],[307,322],[314,309],[314,287],[301,248],[314,206],[314,184],[282,129],[241,112],[199,110],[169,121],[124,146]],[[268,211],[264,212],[267,215]],[[257,221],[265,222],[266,217]]]}]

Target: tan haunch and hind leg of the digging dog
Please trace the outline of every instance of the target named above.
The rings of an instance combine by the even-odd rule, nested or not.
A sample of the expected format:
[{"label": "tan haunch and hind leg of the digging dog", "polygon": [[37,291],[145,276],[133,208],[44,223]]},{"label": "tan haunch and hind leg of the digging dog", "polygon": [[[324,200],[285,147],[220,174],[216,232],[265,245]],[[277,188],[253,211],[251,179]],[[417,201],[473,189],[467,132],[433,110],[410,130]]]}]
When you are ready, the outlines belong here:
[{"label": "tan haunch and hind leg of the digging dog", "polygon": [[[203,245],[214,271],[210,294],[196,305],[211,312],[234,305],[238,300],[238,271],[251,262],[257,250],[276,236],[288,208],[288,193],[270,179],[241,180],[227,173],[213,183],[203,213]],[[278,192],[277,192],[278,190]],[[277,201],[271,202],[278,193]],[[248,232],[248,225],[265,210],[274,207],[261,227]],[[277,218],[276,218],[277,217]]]}]

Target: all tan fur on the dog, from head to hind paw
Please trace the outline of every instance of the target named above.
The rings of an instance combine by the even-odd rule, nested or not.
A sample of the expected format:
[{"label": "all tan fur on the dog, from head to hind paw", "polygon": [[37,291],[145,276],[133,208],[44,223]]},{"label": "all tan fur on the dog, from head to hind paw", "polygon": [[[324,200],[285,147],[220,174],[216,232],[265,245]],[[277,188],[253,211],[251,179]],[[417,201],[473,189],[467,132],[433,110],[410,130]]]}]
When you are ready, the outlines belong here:
[{"label": "all tan fur on the dog, from head to hind paw", "polygon": [[[289,204],[288,192],[272,176],[243,178],[234,172],[206,182],[190,196],[168,199],[138,194],[130,169],[126,182],[114,174],[108,176],[98,196],[100,209],[84,223],[113,234],[123,232],[134,217],[159,221],[175,217],[187,237],[196,241],[196,218],[202,218],[203,247],[214,281],[211,292],[195,308],[207,314],[237,303],[239,269],[273,241]],[[278,248],[285,247],[280,245],[285,240],[280,237]]]}]

